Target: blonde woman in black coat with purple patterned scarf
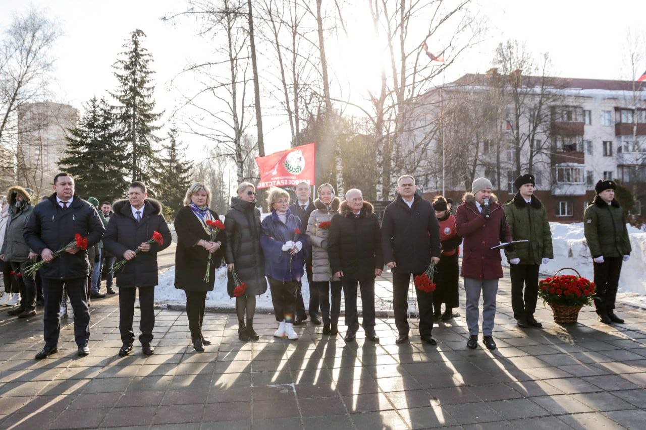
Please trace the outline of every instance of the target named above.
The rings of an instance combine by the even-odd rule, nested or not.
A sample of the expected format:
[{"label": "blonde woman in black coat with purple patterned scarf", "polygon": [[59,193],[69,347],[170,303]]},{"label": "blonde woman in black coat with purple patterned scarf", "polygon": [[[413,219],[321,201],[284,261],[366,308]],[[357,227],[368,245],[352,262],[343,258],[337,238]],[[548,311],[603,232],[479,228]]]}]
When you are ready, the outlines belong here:
[{"label": "blonde woman in black coat with purple patterned scarf", "polygon": [[[211,342],[202,336],[202,322],[206,293],[213,291],[215,271],[222,264],[225,232],[219,230],[211,239],[211,227],[207,221],[218,221],[218,214],[209,209],[211,190],[202,183],[189,187],[184,207],[175,217],[177,249],[175,251],[175,288],[186,293],[186,314],[189,318],[191,339],[196,351],[204,351],[203,345]],[[205,281],[207,262],[211,258],[208,280]]]}]

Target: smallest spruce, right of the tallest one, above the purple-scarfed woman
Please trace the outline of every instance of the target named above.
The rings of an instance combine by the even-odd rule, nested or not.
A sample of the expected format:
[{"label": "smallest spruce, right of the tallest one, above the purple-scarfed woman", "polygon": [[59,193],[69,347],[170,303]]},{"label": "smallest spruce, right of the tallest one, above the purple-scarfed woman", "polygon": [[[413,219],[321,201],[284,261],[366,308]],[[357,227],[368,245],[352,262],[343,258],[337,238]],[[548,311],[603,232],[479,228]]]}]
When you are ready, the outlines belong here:
[{"label": "smallest spruce, right of the tallest one, above the purple-scarfed woman", "polygon": [[164,216],[167,220],[184,205],[186,190],[192,182],[193,161],[185,159],[185,148],[177,141],[178,130],[172,127],[168,132],[167,142],[162,144],[164,156],[158,163],[157,196],[163,203]]}]

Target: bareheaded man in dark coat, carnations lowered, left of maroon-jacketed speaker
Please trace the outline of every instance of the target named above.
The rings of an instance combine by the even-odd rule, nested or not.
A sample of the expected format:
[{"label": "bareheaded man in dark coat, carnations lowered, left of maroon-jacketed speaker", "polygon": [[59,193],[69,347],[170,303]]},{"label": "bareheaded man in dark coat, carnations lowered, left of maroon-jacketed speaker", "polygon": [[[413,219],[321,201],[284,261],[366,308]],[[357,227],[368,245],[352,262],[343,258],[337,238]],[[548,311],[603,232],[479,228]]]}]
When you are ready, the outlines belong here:
[{"label": "bareheaded man in dark coat, carnations lowered, left of maroon-jacketed speaker", "polygon": [[[440,261],[439,223],[430,201],[415,191],[415,179],[410,175],[397,179],[397,198],[384,211],[381,243],[384,261],[393,272],[393,310],[399,336],[397,343],[408,340],[408,286],[411,275],[426,271],[433,261]],[[415,286],[417,289],[417,286]],[[437,345],[433,330],[433,293],[417,289],[419,334],[422,341]]]}]

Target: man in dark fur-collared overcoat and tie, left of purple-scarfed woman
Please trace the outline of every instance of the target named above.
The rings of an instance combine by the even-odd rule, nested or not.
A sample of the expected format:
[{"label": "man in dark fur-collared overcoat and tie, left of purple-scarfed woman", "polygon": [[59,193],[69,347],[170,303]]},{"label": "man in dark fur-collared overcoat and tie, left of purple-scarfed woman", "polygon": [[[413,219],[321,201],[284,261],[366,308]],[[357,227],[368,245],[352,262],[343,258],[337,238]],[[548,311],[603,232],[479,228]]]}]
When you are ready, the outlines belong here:
[{"label": "man in dark fur-collared overcoat and tie, left of purple-scarfed woman", "polygon": [[[137,289],[141,308],[141,348],[146,355],[154,354],[151,342],[155,325],[154,287],[158,284],[157,253],[171,245],[171,231],[161,214],[161,203],[147,197],[146,185],[140,181],[131,183],[128,187],[128,199],[116,201],[112,206],[114,215],[110,217],[103,239],[103,247],[110,254],[128,260],[123,269],[116,273],[119,331],[123,342],[120,355],[127,355],[132,351],[132,319]],[[161,234],[161,245],[156,242],[146,243],[154,232]],[[135,252],[136,249],[140,249],[140,252]]]}]

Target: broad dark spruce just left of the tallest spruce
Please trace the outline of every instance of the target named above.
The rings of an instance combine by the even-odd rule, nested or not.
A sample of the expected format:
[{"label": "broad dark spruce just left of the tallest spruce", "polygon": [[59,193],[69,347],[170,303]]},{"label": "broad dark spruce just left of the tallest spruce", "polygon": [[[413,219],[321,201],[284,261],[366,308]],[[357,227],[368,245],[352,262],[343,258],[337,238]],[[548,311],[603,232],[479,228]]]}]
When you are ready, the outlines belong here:
[{"label": "broad dark spruce just left of the tallest spruce", "polygon": [[85,104],[85,114],[76,128],[68,129],[66,139],[65,156],[58,165],[76,178],[77,194],[99,201],[123,197],[125,145],[114,109],[105,99],[92,97]]}]

